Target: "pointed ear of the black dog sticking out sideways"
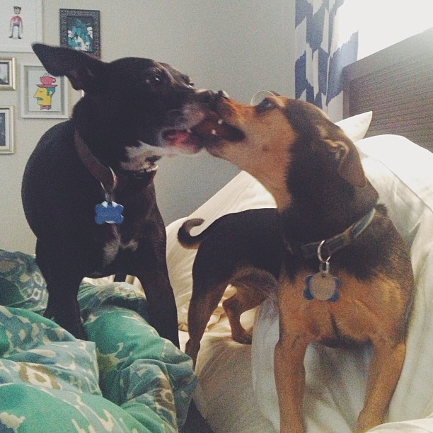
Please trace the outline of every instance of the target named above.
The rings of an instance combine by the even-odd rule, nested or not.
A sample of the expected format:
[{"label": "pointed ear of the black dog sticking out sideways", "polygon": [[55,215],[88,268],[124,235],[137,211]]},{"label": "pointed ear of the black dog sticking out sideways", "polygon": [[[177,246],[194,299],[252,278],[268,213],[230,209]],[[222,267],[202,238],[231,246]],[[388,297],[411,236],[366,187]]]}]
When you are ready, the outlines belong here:
[{"label": "pointed ear of the black dog sticking out sideways", "polygon": [[105,63],[89,54],[66,47],[33,44],[33,51],[50,74],[65,75],[75,90],[95,93],[104,82]]}]

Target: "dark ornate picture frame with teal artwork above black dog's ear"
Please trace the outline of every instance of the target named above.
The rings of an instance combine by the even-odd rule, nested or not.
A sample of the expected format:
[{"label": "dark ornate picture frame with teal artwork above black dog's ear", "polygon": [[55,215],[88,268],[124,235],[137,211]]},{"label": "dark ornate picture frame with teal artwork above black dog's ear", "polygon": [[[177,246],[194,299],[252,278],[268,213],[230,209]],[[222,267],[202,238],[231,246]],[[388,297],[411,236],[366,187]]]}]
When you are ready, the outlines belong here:
[{"label": "dark ornate picture frame with teal artwork above black dog's ear", "polygon": [[100,59],[100,11],[60,9],[60,45]]}]

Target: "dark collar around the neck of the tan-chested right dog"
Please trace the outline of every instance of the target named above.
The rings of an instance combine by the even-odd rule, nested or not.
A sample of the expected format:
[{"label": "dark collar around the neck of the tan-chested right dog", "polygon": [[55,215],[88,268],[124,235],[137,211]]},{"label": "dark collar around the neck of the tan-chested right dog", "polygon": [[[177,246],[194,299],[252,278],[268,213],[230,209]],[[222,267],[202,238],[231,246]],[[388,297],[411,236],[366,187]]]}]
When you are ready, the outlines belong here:
[{"label": "dark collar around the neck of the tan-chested right dog", "polygon": [[374,214],[376,214],[375,208],[371,209],[371,211],[364,215],[364,217],[354,222],[354,224],[348,227],[345,231],[329,239],[304,243],[304,245],[298,245],[296,247],[289,242],[289,250],[306,259],[318,257],[319,253],[324,258],[328,258],[354,241],[354,239],[356,239],[369,226],[371,221],[373,221]]}]

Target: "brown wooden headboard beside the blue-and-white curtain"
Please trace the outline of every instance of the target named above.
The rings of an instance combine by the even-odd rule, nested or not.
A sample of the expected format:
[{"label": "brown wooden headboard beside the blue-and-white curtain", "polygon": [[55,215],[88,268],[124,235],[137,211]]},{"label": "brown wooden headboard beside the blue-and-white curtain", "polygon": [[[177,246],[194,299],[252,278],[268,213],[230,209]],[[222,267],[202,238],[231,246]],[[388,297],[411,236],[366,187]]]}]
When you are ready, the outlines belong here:
[{"label": "brown wooden headboard beside the blue-and-white curtain", "polygon": [[433,28],[343,69],[344,117],[373,112],[366,137],[398,134],[433,151]]}]

